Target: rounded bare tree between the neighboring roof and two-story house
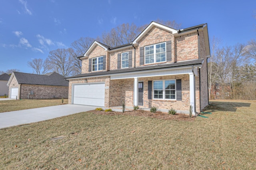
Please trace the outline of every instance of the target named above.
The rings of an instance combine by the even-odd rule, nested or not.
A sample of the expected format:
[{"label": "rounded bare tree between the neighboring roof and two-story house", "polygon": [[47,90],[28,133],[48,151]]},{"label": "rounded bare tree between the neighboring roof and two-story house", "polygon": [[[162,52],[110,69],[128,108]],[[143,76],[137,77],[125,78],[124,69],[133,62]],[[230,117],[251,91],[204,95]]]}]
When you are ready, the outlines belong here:
[{"label": "rounded bare tree between the neighboring roof and two-story house", "polygon": [[74,50],[72,48],[59,48],[49,52],[49,60],[53,70],[65,77],[71,76],[74,69]]}]

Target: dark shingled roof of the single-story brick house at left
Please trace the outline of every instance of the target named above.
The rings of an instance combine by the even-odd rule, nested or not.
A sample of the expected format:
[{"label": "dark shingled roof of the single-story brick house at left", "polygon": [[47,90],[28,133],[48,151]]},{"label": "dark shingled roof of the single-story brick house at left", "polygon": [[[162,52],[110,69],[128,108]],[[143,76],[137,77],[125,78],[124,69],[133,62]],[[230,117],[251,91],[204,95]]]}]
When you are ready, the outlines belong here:
[{"label": "dark shingled roof of the single-story brick house at left", "polygon": [[64,76],[52,72],[44,75],[13,72],[18,84],[34,84],[47,86],[68,86]]}]

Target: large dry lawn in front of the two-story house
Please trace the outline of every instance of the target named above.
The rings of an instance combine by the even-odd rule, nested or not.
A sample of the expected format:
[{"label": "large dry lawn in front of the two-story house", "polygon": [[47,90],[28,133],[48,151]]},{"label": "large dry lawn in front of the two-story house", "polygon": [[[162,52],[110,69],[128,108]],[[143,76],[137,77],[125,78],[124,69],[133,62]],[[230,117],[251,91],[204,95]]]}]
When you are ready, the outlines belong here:
[{"label": "large dry lawn in front of the two-story house", "polygon": [[256,101],[211,104],[192,122],[82,112],[0,129],[0,169],[255,169]]}]

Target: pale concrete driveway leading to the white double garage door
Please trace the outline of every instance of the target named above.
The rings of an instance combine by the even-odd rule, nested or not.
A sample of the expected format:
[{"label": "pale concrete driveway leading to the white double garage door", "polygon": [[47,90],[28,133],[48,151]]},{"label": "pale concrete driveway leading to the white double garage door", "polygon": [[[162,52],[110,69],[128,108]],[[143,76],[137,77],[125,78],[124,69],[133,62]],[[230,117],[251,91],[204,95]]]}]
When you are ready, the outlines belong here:
[{"label": "pale concrete driveway leading to the white double garage door", "polygon": [[0,113],[0,128],[40,122],[61,116],[67,116],[79,112],[94,110],[96,106],[85,106],[77,104],[63,104],[44,108],[34,108]]}]

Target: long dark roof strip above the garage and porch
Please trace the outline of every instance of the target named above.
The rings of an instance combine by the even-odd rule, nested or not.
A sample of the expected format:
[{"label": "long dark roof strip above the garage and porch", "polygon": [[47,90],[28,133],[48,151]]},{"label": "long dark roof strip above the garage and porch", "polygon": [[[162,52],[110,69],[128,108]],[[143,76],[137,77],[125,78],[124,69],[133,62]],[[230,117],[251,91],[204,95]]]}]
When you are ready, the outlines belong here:
[{"label": "long dark roof strip above the garage and porch", "polygon": [[159,69],[175,68],[175,67],[178,68],[178,67],[202,64],[203,61],[204,59],[197,59],[197,60],[189,60],[189,61],[183,61],[183,62],[175,62],[170,64],[157,64],[153,66],[124,68],[124,69],[117,69],[117,70],[110,70],[110,71],[103,71],[103,72],[90,72],[90,73],[78,74],[76,76],[71,76],[67,78],[79,78],[79,77],[86,77],[86,76],[104,76],[106,74],[118,74],[118,73],[129,73],[129,72],[132,73],[136,71],[159,70]]}]

